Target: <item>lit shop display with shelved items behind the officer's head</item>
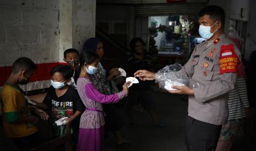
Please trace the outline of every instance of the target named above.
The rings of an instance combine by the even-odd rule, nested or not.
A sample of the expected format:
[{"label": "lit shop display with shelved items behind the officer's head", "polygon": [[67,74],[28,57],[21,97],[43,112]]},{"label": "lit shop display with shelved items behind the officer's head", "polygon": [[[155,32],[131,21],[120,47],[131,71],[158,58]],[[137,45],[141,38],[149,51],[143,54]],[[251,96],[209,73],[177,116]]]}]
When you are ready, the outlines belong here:
[{"label": "lit shop display with shelved items behind the officer's head", "polygon": [[149,35],[158,50],[157,63],[186,63],[189,57],[190,35],[198,33],[198,18],[193,15],[150,16]]}]

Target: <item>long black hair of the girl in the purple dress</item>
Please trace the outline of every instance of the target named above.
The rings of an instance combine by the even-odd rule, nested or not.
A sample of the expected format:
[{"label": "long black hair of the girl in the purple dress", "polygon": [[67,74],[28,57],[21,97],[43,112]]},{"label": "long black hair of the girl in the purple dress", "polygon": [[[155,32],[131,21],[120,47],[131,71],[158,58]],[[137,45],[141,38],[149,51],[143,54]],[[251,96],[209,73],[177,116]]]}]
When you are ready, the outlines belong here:
[{"label": "long black hair of the girl in the purple dress", "polygon": [[77,84],[79,74],[80,74],[81,69],[83,68],[84,64],[88,63],[90,65],[91,63],[93,63],[97,59],[100,59],[100,56],[97,55],[92,50],[84,50],[84,52],[80,54],[80,57],[79,57],[79,63],[80,64],[77,67],[77,69],[75,69],[75,75],[74,75],[75,84]]}]

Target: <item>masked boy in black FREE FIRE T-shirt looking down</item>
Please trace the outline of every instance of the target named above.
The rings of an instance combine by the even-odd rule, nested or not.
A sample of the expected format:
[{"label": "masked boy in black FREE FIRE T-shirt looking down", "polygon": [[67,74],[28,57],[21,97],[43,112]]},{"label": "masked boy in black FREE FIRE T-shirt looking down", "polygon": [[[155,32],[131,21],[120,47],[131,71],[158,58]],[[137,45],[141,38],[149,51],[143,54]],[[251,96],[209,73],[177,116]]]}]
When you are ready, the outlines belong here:
[{"label": "masked boy in black FREE FIRE T-shirt looking down", "polygon": [[[73,135],[73,143],[78,140],[80,114],[84,111],[84,105],[80,100],[77,90],[68,85],[73,75],[73,69],[67,65],[58,65],[51,71],[51,87],[43,100],[46,109],[50,112],[53,119],[54,136],[66,134],[66,124],[70,124]],[[55,121],[64,117],[66,123],[57,126]]]}]

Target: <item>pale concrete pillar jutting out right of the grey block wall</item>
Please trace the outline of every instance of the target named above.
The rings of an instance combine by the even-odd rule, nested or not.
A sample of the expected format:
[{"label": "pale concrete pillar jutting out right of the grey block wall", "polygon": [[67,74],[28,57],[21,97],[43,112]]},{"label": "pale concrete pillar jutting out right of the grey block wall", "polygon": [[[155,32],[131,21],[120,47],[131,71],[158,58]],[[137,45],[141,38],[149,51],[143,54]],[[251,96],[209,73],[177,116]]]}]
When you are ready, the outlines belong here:
[{"label": "pale concrete pillar jutting out right of the grey block wall", "polygon": [[96,1],[61,0],[59,7],[59,62],[63,62],[66,49],[75,48],[81,51],[85,40],[95,37]]}]

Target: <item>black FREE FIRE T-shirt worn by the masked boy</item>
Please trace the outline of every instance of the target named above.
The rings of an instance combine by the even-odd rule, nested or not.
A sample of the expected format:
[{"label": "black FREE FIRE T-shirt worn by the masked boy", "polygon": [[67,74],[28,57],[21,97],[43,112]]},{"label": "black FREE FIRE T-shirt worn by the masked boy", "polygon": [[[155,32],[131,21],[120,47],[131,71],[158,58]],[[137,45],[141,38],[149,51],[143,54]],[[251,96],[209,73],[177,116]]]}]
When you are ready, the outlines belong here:
[{"label": "black FREE FIRE T-shirt worn by the masked boy", "polygon": [[[81,102],[78,92],[72,86],[68,86],[67,92],[60,97],[56,95],[55,88],[51,86],[43,103],[45,103],[48,110],[51,111],[50,114],[52,115],[53,121],[64,117],[71,117],[76,111],[84,111],[84,105]],[[72,131],[74,128],[78,129],[79,120],[80,117],[77,117],[72,121]],[[66,127],[64,125],[53,125],[55,127],[55,136],[62,136],[66,133]]]}]

